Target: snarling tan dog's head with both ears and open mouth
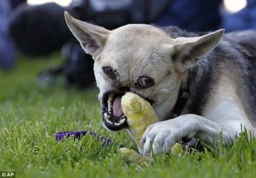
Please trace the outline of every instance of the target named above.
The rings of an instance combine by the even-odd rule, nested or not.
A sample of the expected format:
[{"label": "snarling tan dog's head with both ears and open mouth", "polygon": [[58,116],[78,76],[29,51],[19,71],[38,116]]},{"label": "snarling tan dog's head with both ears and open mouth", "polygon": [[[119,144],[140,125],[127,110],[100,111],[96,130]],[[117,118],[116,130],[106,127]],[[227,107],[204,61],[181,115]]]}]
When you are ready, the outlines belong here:
[{"label": "snarling tan dog's head with both ears and open mouth", "polygon": [[88,24],[65,13],[68,27],[94,58],[104,125],[126,126],[120,100],[133,92],[150,102],[159,120],[172,113],[189,68],[209,53],[223,30],[200,37],[172,38],[150,25],[126,25],[115,30]]}]

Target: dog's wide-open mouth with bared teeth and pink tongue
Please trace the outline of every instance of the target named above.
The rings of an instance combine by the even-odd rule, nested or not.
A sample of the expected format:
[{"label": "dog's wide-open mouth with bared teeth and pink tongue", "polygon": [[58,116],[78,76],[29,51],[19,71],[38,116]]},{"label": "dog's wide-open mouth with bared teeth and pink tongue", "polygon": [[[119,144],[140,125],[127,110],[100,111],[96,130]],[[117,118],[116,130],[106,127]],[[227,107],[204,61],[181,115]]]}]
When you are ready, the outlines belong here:
[{"label": "dog's wide-open mouth with bared teeth and pink tongue", "polygon": [[102,119],[104,125],[116,131],[127,127],[127,118],[123,114],[121,98],[124,93],[106,94],[102,100]]}]

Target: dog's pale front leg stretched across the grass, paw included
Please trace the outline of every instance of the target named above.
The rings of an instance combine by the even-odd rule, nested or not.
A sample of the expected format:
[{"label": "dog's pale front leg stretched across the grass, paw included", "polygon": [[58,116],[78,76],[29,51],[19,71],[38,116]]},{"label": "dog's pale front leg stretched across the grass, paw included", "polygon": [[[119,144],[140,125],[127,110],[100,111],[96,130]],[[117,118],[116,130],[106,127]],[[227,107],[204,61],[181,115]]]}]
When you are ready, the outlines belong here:
[{"label": "dog's pale front leg stretched across the grass, paw included", "polygon": [[221,132],[224,142],[227,143],[230,137],[233,138],[237,131],[240,131],[239,127],[241,128],[241,124],[237,124],[236,127],[223,126],[204,117],[188,114],[148,126],[140,144],[145,142],[143,155],[151,151],[151,143],[153,143],[154,153],[159,153],[170,150],[179,139],[196,137],[205,143],[212,144],[214,138],[220,139]]}]

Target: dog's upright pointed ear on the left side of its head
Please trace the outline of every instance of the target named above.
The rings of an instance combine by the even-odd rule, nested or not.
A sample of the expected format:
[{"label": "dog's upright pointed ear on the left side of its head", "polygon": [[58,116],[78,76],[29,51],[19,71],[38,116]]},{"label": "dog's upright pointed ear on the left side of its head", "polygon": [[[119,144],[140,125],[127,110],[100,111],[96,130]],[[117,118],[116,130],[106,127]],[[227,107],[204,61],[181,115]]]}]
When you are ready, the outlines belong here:
[{"label": "dog's upright pointed ear on the left side of its head", "polygon": [[65,18],[69,29],[80,42],[84,51],[92,56],[98,55],[102,51],[110,31],[75,19],[67,11],[65,11]]}]

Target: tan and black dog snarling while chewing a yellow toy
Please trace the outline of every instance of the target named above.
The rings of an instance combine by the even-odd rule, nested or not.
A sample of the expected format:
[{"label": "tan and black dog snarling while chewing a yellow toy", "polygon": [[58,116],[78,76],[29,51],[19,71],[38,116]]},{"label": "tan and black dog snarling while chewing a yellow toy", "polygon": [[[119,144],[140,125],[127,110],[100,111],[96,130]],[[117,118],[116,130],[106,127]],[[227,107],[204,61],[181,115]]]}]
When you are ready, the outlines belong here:
[{"label": "tan and black dog snarling while chewing a yellow toy", "polygon": [[228,143],[244,127],[254,136],[256,32],[192,33],[145,24],[110,31],[68,12],[65,17],[94,59],[104,126],[127,127],[120,106],[125,92],[153,106],[159,122],[141,138],[143,155],[168,151],[177,140],[212,145],[222,137]]}]

